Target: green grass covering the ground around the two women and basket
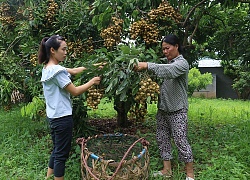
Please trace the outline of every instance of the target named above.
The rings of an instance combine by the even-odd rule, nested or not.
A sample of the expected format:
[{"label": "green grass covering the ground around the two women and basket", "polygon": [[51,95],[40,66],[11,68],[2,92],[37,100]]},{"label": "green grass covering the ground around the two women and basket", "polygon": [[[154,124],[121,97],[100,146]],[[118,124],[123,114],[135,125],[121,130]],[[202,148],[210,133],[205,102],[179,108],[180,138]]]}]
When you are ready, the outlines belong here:
[{"label": "green grass covering the ground around the two women and basket", "polygon": [[[151,174],[162,168],[154,133],[156,110],[155,104],[148,107],[148,118],[144,123],[152,131],[140,134],[138,130],[138,134],[150,142]],[[89,115],[91,118],[110,118],[116,112],[112,103],[102,102],[99,109],[90,111]],[[20,107],[15,107],[10,112],[0,110],[0,123],[1,179],[44,179],[51,149],[46,121],[21,117]],[[250,101],[189,99],[189,139],[195,158],[196,179],[250,179],[249,137]],[[173,179],[185,179],[183,164],[178,162],[175,148],[173,154]],[[65,179],[81,179],[80,148],[75,142],[66,165]]]}]

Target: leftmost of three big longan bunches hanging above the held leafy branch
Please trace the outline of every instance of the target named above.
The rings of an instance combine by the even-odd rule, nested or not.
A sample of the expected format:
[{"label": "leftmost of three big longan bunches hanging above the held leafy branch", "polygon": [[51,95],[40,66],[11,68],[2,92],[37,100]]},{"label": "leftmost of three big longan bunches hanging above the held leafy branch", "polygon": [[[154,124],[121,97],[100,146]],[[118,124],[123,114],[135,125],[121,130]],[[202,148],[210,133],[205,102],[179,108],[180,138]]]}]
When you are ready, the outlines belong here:
[{"label": "leftmost of three big longan bunches hanging above the held leafy branch", "polygon": [[108,28],[101,31],[101,37],[104,39],[104,46],[110,48],[121,42],[123,20],[112,17],[112,23]]}]

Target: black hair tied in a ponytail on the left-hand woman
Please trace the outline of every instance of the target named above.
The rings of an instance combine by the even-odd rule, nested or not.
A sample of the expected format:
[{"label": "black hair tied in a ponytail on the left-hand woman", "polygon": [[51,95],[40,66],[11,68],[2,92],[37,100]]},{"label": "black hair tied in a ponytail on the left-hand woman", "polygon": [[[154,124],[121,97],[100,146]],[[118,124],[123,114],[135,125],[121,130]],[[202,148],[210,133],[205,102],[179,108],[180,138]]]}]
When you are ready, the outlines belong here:
[{"label": "black hair tied in a ponytail on the left-hand woman", "polygon": [[62,41],[65,39],[59,35],[43,38],[38,51],[38,63],[47,64],[50,58],[50,48],[58,50]]}]

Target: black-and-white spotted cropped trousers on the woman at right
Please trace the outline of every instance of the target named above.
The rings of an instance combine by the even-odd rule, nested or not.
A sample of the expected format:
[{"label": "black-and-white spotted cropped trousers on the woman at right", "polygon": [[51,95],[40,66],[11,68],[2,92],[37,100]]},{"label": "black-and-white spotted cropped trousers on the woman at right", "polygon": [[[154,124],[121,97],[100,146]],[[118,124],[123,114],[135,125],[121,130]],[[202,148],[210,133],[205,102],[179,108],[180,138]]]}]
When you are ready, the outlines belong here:
[{"label": "black-and-white spotted cropped trousers on the woman at right", "polygon": [[166,113],[158,110],[156,140],[161,158],[165,161],[172,159],[171,138],[178,149],[179,160],[188,163],[193,162],[193,154],[187,140],[187,110],[181,109]]}]

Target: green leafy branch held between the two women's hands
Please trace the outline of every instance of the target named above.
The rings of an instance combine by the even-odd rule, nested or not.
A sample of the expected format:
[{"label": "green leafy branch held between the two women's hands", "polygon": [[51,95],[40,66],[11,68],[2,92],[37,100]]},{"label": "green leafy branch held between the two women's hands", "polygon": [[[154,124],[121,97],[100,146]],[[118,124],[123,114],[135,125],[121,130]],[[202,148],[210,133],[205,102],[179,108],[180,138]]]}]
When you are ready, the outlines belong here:
[{"label": "green leafy branch held between the two women's hands", "polygon": [[[117,49],[108,51],[102,48],[96,54],[89,56],[88,69],[82,74],[82,79],[101,75],[101,87],[105,88],[105,96],[112,98],[119,96],[120,101],[127,101],[128,97],[134,96],[139,89],[139,82],[144,77],[143,73],[133,71],[138,61],[159,61],[153,49],[145,49],[145,46],[134,47],[119,45]],[[102,68],[91,66],[94,63],[106,62]],[[86,78],[87,77],[87,78]]]}]

